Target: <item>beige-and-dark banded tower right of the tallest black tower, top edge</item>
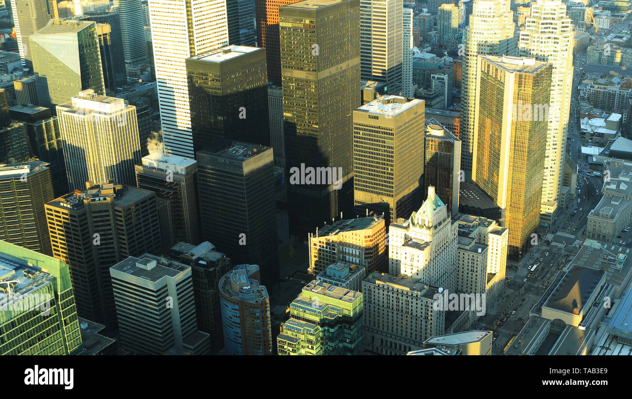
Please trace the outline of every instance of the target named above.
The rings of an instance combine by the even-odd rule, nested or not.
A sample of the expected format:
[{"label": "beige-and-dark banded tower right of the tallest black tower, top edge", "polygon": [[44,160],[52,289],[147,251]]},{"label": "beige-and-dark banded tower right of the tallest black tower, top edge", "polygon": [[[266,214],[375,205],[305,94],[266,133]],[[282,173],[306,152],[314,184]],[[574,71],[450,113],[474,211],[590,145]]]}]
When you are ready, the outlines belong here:
[{"label": "beige-and-dark banded tower right of the tallest black tower, top edge", "polygon": [[360,1],[361,78],[386,83],[394,95],[402,90],[403,9],[403,0]]}]

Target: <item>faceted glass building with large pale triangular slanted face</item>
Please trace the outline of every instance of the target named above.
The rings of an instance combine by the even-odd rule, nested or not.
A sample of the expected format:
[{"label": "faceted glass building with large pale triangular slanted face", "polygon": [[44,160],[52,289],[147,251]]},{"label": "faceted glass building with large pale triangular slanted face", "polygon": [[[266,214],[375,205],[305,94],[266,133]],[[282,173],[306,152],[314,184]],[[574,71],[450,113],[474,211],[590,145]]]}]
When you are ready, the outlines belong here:
[{"label": "faceted glass building with large pale triangular slanted face", "polygon": [[30,40],[40,105],[54,112],[82,90],[106,93],[96,23],[52,20]]}]

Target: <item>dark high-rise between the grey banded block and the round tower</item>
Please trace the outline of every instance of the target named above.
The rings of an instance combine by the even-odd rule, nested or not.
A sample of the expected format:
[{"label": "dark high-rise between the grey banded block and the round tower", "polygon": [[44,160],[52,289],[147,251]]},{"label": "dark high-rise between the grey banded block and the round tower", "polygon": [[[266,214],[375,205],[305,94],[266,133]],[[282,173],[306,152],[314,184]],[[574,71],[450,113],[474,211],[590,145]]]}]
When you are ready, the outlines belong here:
[{"label": "dark high-rise between the grey banded block and the round tower", "polygon": [[210,334],[211,350],[217,352],[224,347],[219,280],[231,270],[231,258],[217,252],[208,241],[198,246],[178,242],[171,248],[169,258],[191,266],[198,330]]}]

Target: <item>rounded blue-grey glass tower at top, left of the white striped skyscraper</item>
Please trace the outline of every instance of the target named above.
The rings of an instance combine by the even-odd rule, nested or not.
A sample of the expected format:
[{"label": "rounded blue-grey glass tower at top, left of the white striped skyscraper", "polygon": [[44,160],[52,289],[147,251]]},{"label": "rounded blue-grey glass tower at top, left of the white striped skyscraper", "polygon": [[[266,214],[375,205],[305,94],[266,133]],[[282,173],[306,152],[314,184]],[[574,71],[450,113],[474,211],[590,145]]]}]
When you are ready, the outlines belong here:
[{"label": "rounded blue-grey glass tower at top, left of the white striped skyscraper", "polygon": [[[114,11],[121,21],[121,39],[123,57],[126,64],[134,64],[147,60],[147,43],[145,40],[145,18],[140,1],[113,0]],[[173,12],[176,13],[174,4]]]}]

